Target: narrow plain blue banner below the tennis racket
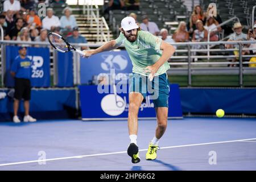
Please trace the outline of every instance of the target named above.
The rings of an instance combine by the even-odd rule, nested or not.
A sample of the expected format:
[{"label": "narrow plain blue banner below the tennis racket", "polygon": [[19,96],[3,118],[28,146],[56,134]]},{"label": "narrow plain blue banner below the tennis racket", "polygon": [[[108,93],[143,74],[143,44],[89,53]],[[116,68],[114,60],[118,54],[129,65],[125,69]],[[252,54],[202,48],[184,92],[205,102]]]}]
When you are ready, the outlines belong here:
[{"label": "narrow plain blue banner below the tennis racket", "polygon": [[57,52],[57,75],[58,81],[56,86],[68,87],[73,86],[73,53]]}]

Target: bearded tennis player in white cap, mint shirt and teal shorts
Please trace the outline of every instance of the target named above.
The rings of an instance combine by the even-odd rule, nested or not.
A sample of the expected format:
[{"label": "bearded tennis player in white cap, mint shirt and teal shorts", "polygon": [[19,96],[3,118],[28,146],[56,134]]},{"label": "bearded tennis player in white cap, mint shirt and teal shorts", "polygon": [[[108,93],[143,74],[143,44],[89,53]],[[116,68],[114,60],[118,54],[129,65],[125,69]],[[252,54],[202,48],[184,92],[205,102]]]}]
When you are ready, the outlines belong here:
[{"label": "bearded tennis player in white cap, mint shirt and teal shorts", "polygon": [[[146,159],[154,160],[156,159],[156,151],[160,149],[158,147],[159,139],[163,136],[167,127],[170,92],[166,74],[170,65],[167,60],[174,54],[175,48],[150,32],[141,30],[134,18],[129,16],[122,19],[120,30],[117,39],[111,40],[95,50],[84,51],[84,57],[110,51],[121,46],[121,44],[125,45],[126,51],[129,53],[133,64],[133,73],[129,75],[128,129],[131,142],[127,154],[131,156],[131,162],[133,163],[141,161],[137,146],[138,111],[147,95],[147,85],[152,81],[150,82],[153,85],[152,89],[157,92],[158,96],[153,100],[158,125],[155,136],[149,143]],[[158,82],[155,80],[158,80]]]}]

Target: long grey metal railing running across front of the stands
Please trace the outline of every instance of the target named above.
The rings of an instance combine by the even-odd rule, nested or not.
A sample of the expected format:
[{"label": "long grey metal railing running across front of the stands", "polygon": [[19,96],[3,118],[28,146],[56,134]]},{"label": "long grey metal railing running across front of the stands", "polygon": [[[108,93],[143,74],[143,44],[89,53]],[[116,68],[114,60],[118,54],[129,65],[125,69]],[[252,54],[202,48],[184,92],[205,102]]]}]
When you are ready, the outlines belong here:
[{"label": "long grey metal railing running across front of the stands", "polygon": [[[6,44],[29,44],[31,46],[35,45],[48,45],[49,43],[41,43],[41,42],[17,42],[14,40],[1,40],[1,46],[5,49]],[[210,49],[210,52],[230,52],[230,51],[238,51],[239,56],[236,55],[207,55],[208,49],[193,49],[194,45],[208,45],[208,44],[232,44],[238,45],[238,48],[230,48],[230,49]],[[254,41],[237,41],[237,42],[186,42],[186,43],[172,43],[173,46],[185,46],[183,49],[176,49],[176,53],[186,53],[187,55],[177,56],[174,55],[169,60],[169,64],[171,65],[171,69],[167,72],[168,75],[187,75],[188,76],[188,85],[191,86],[192,75],[238,75],[240,78],[240,86],[243,86],[243,75],[256,75],[256,67],[245,67],[245,65],[256,64],[251,63],[248,60],[250,57],[256,57],[256,55],[242,55],[242,51],[245,50],[254,50],[256,48],[244,48],[243,44],[256,44],[256,40]],[[76,48],[80,48],[81,46],[88,46],[90,48],[97,48],[102,46],[102,43],[98,44],[90,44],[90,43],[80,43],[80,44],[72,44]],[[123,46],[121,46],[123,48]],[[5,51],[1,51],[2,54],[2,81],[3,76],[5,75]],[[198,56],[192,55],[193,52],[205,52],[205,55]],[[56,56],[54,56],[53,51],[53,80],[56,85],[57,82],[57,74],[56,74]],[[205,59],[210,58],[210,61],[206,61]],[[204,59],[193,62],[193,59]],[[221,60],[220,60],[221,59]],[[230,59],[237,59],[236,62],[230,62]],[[217,61],[216,61],[217,60]],[[228,64],[237,65],[238,67],[228,67]],[[80,84],[80,56],[78,53],[73,54],[73,74],[74,74],[74,84]]]}]

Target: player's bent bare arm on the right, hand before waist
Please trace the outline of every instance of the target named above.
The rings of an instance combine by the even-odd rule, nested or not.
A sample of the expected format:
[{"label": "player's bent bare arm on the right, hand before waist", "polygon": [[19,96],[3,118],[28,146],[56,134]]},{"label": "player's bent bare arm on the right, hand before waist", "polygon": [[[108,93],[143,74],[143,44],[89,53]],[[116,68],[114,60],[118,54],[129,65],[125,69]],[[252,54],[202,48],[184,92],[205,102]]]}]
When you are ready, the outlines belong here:
[{"label": "player's bent bare arm on the right, hand before waist", "polygon": [[155,73],[158,71],[158,69],[166,62],[168,59],[174,54],[175,48],[171,44],[168,44],[164,41],[162,41],[160,45],[160,49],[163,51],[162,56],[159,58],[158,61],[156,61],[155,64],[150,65],[146,67],[145,71],[147,73],[151,73],[152,77],[154,77]]}]

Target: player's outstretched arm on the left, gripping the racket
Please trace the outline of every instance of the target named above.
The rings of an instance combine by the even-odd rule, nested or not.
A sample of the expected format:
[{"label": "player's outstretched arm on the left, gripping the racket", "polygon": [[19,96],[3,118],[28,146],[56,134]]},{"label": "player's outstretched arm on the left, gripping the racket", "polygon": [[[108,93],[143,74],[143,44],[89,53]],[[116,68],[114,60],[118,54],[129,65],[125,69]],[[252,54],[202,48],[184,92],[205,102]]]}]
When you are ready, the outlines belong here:
[{"label": "player's outstretched arm on the left, gripping the racket", "polygon": [[97,49],[94,49],[92,51],[83,51],[85,53],[84,57],[88,58],[92,55],[96,55],[96,53],[104,52],[104,51],[112,51],[113,49],[117,48],[118,46],[121,46],[123,43],[123,40],[125,39],[125,36],[123,36],[122,32],[115,40],[110,40],[108,43],[102,45],[101,47],[98,47]]}]

